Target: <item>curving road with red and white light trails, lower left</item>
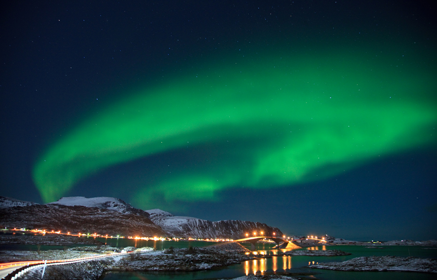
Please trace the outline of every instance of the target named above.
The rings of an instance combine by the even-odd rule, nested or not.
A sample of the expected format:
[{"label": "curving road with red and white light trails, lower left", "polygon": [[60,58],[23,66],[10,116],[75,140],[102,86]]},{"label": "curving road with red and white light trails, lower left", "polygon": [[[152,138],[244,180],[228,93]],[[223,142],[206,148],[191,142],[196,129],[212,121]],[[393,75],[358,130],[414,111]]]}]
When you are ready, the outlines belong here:
[{"label": "curving road with red and white light trails, lower left", "polygon": [[[105,255],[95,255],[95,256],[84,257],[84,258],[66,259],[66,260],[48,260],[47,265],[72,264],[72,263],[97,260],[107,257],[128,255],[131,253],[132,252],[122,252],[122,253],[112,253],[112,254],[105,254]],[[27,261],[27,262],[14,262],[14,263],[0,264],[0,279],[5,278],[9,273],[15,270],[30,264],[44,264],[44,261],[30,261],[30,262]]]}]

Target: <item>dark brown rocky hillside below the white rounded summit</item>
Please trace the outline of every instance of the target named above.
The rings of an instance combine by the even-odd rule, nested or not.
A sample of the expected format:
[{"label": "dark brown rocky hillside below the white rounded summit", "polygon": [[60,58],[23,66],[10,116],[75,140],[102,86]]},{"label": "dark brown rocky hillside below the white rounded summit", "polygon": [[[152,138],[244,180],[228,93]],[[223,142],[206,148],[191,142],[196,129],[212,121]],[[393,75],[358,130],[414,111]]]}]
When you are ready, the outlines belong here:
[{"label": "dark brown rocky hillside below the white rounded summit", "polygon": [[149,218],[132,213],[61,204],[15,206],[0,209],[0,226],[45,229],[109,236],[165,236]]}]

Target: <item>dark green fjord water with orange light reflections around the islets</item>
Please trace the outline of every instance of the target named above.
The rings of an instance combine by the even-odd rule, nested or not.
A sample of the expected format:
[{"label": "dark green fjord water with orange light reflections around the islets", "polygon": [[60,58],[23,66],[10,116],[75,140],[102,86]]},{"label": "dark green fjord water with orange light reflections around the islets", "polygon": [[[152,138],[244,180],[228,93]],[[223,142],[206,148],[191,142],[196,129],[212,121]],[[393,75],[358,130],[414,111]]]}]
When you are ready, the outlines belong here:
[{"label": "dark green fjord water with orange light reflections around the islets", "polygon": [[[151,241],[149,241],[151,242]],[[161,243],[161,244],[159,244]],[[188,242],[179,241],[155,241],[154,245],[157,248],[168,248],[170,246],[175,248],[187,248],[188,246],[201,247],[210,245],[210,243],[192,241],[190,245]],[[109,244],[108,244],[109,245]],[[150,246],[149,247],[154,247]],[[248,244],[250,248],[250,245]],[[413,272],[360,272],[360,271],[334,271],[324,269],[312,269],[306,266],[310,264],[323,262],[343,262],[352,258],[361,256],[400,256],[400,257],[420,257],[420,258],[436,258],[437,249],[425,249],[421,246],[386,246],[384,248],[365,246],[344,245],[344,246],[319,246],[307,249],[314,250],[328,250],[336,249],[352,253],[349,256],[336,257],[310,257],[310,256],[277,256],[278,250],[271,249],[271,244],[257,244],[256,253],[258,255],[268,255],[268,258],[259,258],[242,262],[241,264],[234,264],[223,267],[222,269],[204,270],[195,272],[109,272],[104,280],[199,280],[199,279],[222,279],[222,278],[236,278],[244,275],[265,275],[272,273],[289,273],[290,276],[317,278],[323,280],[334,279],[357,279],[357,280],[431,280],[435,279],[435,274],[428,273],[413,273]],[[156,248],[156,249],[157,249]],[[282,251],[285,251],[283,249]]]}]

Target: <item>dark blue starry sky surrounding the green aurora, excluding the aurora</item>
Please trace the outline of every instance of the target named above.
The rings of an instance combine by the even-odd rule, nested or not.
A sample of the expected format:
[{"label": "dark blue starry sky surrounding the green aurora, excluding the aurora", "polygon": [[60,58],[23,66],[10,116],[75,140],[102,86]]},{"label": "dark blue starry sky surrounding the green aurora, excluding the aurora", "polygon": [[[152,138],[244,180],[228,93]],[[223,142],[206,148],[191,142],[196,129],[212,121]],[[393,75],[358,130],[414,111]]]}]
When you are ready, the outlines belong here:
[{"label": "dark blue starry sky surrounding the green aurora, excluding the aurora", "polygon": [[[64,133],[133,89],[185,72],[202,72],[211,62],[241,58],[242,49],[254,56],[324,46],[389,51],[390,46],[417,44],[416,51],[427,59],[416,67],[436,69],[432,1],[2,5],[0,195],[39,203],[34,164]],[[430,102],[436,104],[435,99]],[[318,182],[268,189],[230,187],[218,191],[212,202],[173,202],[184,204],[173,214],[260,221],[286,234],[437,238],[435,147],[410,147]],[[171,158],[182,165],[183,157],[168,152],[102,169],[79,181],[66,196],[133,202],[135,186],[163,172],[160,163]],[[162,209],[168,210],[166,206],[163,202]]]}]

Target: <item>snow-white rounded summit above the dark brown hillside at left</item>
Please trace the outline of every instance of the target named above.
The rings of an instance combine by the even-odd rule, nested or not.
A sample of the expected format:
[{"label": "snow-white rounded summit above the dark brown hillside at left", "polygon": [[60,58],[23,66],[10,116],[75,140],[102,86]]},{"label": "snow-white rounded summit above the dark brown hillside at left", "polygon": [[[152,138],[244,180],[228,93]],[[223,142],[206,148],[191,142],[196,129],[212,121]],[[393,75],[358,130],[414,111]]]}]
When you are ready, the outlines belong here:
[{"label": "snow-white rounded summit above the dark brown hillside at left", "polygon": [[115,210],[124,214],[136,214],[149,218],[149,213],[131,206],[121,199],[113,197],[92,197],[83,196],[62,197],[60,200],[47,204],[61,204],[66,206],[97,207],[99,209]]}]

